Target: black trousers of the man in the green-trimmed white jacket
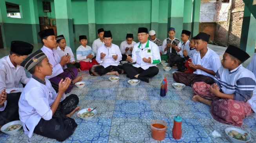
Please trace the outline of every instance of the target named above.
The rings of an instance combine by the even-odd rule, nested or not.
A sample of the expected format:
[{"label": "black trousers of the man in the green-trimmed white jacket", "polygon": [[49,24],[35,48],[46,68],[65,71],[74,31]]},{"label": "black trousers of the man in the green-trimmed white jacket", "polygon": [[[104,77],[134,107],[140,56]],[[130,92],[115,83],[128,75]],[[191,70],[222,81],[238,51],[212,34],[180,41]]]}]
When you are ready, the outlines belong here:
[{"label": "black trousers of the man in the green-trimmed white jacket", "polygon": [[123,64],[123,70],[125,70],[130,79],[133,79],[138,74],[140,74],[140,77],[154,77],[159,72],[156,66],[151,66],[147,70],[144,70],[143,68],[136,68],[132,64],[127,63]]}]

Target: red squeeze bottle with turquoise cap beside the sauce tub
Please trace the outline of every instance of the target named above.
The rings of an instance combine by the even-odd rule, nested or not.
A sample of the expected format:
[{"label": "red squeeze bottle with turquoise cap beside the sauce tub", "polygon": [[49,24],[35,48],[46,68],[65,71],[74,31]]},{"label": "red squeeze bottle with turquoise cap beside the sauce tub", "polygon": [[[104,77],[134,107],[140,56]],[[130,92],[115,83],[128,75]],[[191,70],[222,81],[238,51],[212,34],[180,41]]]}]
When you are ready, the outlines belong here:
[{"label": "red squeeze bottle with turquoise cap beside the sauce tub", "polygon": [[180,139],[182,137],[182,117],[175,116],[173,122],[172,136],[174,139]]}]

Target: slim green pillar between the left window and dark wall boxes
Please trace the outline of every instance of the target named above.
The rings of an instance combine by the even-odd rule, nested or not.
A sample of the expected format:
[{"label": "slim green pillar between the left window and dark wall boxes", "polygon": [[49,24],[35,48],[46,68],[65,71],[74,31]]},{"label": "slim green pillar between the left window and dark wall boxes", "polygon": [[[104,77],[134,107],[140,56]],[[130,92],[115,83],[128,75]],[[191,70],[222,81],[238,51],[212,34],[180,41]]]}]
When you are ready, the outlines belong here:
[{"label": "slim green pillar between the left window and dark wall boxes", "polygon": [[29,0],[29,9],[30,9],[30,17],[31,17],[33,42],[40,43],[40,37],[37,34],[40,31],[40,27],[38,25],[39,19],[38,19],[38,9],[37,9],[36,0]]}]

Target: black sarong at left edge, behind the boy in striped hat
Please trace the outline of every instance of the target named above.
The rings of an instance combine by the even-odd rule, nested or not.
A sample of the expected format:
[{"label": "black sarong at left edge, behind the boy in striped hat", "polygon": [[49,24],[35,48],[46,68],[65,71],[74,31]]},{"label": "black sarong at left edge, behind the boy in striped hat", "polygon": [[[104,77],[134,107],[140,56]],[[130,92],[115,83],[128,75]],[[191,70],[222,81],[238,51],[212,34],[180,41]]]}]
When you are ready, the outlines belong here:
[{"label": "black sarong at left edge, behind the boy in striped hat", "polygon": [[4,111],[0,111],[0,126],[20,120],[18,102],[20,99],[21,92],[7,94],[7,105]]}]

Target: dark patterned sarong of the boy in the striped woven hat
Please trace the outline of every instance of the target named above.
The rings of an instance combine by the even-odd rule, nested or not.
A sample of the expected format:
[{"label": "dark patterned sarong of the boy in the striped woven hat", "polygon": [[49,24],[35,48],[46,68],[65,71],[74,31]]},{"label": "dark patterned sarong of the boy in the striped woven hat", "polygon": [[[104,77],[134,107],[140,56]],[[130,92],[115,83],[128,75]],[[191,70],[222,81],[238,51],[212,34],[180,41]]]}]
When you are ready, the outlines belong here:
[{"label": "dark patterned sarong of the boy in the striped woven hat", "polygon": [[74,119],[69,118],[66,114],[71,113],[78,105],[79,98],[71,94],[66,97],[60,104],[51,120],[41,120],[34,128],[34,133],[41,136],[64,141],[69,138],[77,127]]}]

